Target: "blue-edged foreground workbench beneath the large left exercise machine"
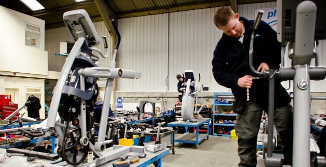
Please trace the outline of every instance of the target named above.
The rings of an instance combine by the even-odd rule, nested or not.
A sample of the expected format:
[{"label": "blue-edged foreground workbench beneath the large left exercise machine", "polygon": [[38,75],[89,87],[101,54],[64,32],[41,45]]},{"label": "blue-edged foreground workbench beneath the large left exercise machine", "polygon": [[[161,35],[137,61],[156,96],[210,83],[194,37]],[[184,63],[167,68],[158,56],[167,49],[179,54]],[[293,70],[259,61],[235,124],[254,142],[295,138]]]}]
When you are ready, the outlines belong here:
[{"label": "blue-edged foreground workbench beneath the large left exercise machine", "polygon": [[[105,152],[110,152],[112,151],[112,148],[106,149],[104,152],[102,152],[103,155],[105,155]],[[0,149],[0,154],[6,153],[5,149]],[[169,149],[164,149],[161,151],[158,151],[156,153],[149,153],[146,152],[146,157],[141,158],[138,162],[131,164],[130,167],[147,167],[148,165],[152,164],[153,162],[157,161],[157,167],[162,167],[162,158],[166,155],[169,154]],[[59,159],[61,160],[61,158]],[[0,163],[1,167],[43,167],[46,164],[50,164],[52,161],[50,160],[44,160],[44,159],[39,159],[36,158],[32,162],[27,162],[27,157],[22,157],[22,156],[11,156],[7,157],[7,159]],[[112,163],[107,163],[99,167],[111,167]],[[77,166],[76,166],[77,167]],[[94,167],[94,166],[91,166]]]}]

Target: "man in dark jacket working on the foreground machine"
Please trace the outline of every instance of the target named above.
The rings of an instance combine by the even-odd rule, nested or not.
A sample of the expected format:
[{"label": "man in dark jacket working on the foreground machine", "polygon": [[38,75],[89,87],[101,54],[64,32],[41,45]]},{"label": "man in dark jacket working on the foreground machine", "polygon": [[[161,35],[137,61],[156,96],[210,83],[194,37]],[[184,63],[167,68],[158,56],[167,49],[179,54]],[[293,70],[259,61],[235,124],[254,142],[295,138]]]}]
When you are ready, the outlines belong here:
[{"label": "man in dark jacket working on the foreground machine", "polygon": [[[262,111],[268,109],[268,81],[255,79],[248,66],[249,43],[253,20],[239,17],[230,7],[221,7],[214,15],[214,24],[224,33],[213,53],[212,73],[216,82],[231,88],[237,112],[235,132],[238,136],[239,167],[255,167],[257,134]],[[264,21],[259,22],[253,40],[253,67],[259,72],[278,69],[280,43],[276,32]],[[249,88],[250,100],[246,100]],[[292,112],[280,81],[275,78],[274,125],[282,141],[284,161],[292,162]]]}]

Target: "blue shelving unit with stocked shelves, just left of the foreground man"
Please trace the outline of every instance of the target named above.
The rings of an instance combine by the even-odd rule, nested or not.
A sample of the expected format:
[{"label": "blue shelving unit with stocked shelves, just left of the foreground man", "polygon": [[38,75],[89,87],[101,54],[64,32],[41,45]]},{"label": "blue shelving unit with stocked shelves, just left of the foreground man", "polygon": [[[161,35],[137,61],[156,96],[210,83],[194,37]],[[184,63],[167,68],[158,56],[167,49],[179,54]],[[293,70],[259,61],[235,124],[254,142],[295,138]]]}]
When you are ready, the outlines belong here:
[{"label": "blue shelving unit with stocked shelves, just left of the foreground man", "polygon": [[[222,114],[220,112],[230,112],[233,110],[232,103],[216,103],[220,98],[224,98],[227,101],[233,100],[234,97],[230,92],[215,92],[214,93],[214,104],[213,104],[213,136],[225,136],[229,137],[229,133],[218,133],[219,128],[223,129],[223,132],[229,132],[234,129],[233,121],[235,120],[236,114]],[[219,123],[219,120],[223,120],[223,123]],[[224,120],[231,120],[232,123],[224,123]]]}]

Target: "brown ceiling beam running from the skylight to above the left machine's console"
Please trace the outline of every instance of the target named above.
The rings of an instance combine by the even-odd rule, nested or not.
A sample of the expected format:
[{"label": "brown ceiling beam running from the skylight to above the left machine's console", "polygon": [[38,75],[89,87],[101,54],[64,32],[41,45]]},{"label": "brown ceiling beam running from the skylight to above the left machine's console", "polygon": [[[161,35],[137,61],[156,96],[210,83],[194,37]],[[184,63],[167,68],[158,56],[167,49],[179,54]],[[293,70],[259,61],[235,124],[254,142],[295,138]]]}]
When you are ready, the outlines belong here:
[{"label": "brown ceiling beam running from the skylight to above the left machine's console", "polygon": [[93,4],[94,4],[93,1],[89,1],[89,2],[73,4],[73,5],[69,5],[69,6],[64,6],[64,7],[57,7],[57,8],[47,9],[47,10],[34,11],[31,13],[27,13],[27,14],[37,17],[37,16],[41,16],[41,15],[46,15],[46,14],[53,14],[53,13],[57,13],[57,12],[65,12],[65,11],[80,9],[80,8],[84,8],[84,7],[93,5]]}]

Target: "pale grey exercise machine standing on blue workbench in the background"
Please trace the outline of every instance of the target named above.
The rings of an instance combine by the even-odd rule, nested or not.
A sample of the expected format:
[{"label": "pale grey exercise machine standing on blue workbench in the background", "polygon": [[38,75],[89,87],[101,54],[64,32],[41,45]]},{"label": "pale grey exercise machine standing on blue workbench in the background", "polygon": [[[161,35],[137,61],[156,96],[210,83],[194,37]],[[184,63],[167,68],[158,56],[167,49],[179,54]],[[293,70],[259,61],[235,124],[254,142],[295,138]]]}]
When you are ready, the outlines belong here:
[{"label": "pale grey exercise machine standing on blue workbench in the background", "polygon": [[[200,74],[199,80],[197,83],[197,87],[195,87],[195,78],[193,76],[193,71],[185,70],[184,71],[184,78],[185,78],[185,88],[180,88],[183,91],[182,95],[182,104],[181,104],[181,117],[183,121],[193,119],[193,115],[197,115],[200,113],[203,105],[197,110],[197,95],[202,91],[203,85],[199,86],[200,81]],[[201,98],[202,100],[202,98]],[[195,106],[193,106],[195,104]]]}]

